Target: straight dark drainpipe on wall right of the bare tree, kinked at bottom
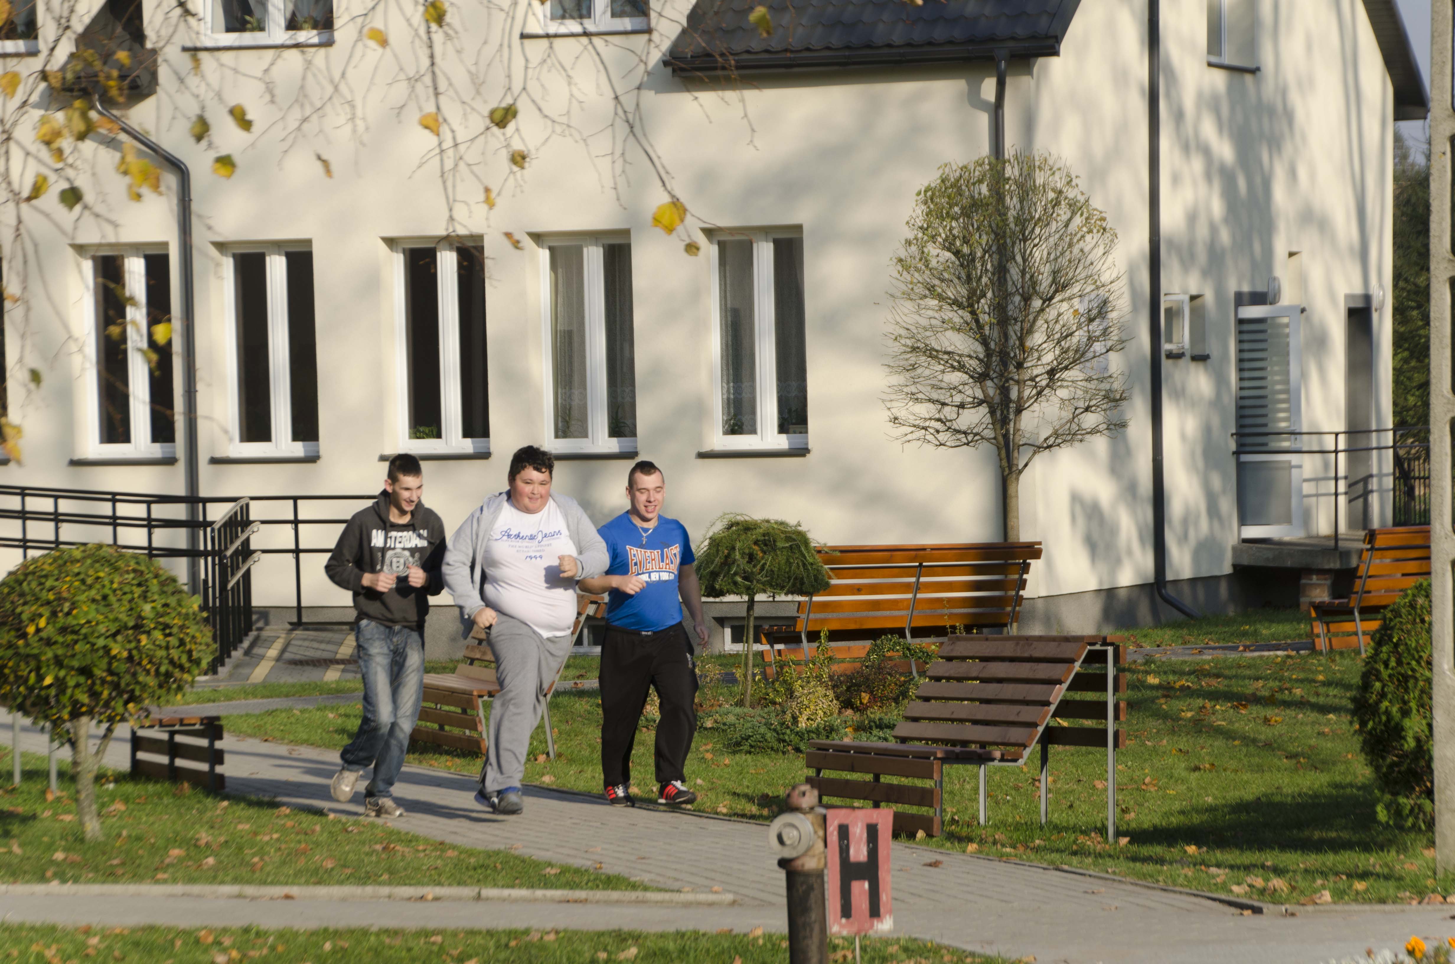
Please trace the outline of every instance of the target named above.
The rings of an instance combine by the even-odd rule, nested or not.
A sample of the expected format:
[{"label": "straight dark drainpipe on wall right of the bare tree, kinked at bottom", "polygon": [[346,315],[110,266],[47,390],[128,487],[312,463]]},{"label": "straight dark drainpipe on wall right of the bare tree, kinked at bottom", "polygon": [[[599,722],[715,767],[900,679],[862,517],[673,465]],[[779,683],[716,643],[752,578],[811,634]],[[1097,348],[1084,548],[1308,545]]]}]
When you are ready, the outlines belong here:
[{"label": "straight dark drainpipe on wall right of the bare tree, kinked at bottom", "polygon": [[1147,210],[1152,358],[1152,584],[1187,619],[1197,610],[1167,591],[1167,491],[1163,481],[1163,119],[1160,0],[1147,0]]}]

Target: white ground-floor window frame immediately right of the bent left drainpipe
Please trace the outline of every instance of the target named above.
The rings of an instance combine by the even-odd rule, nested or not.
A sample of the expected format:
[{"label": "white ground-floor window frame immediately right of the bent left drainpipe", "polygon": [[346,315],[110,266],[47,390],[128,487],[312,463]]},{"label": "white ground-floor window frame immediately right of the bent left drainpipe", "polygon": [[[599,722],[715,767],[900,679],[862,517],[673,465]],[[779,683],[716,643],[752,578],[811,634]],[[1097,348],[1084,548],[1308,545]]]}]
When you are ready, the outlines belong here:
[{"label": "white ground-floor window frame immediately right of the bent left drainpipe", "polygon": [[[317,441],[292,441],[292,377],[288,345],[288,262],[290,250],[313,250],[307,243],[274,245],[228,245],[223,249],[223,320],[227,352],[227,416],[228,454],[246,457],[303,457],[317,459]],[[262,252],[268,255],[268,390],[272,415],[272,441],[242,441],[243,424],[239,405],[237,371],[237,278],[233,255]],[[317,272],[314,272],[314,297],[317,297]],[[317,316],[314,316],[317,325]],[[317,344],[317,328],[314,328]],[[279,443],[279,438],[288,441]]]}]

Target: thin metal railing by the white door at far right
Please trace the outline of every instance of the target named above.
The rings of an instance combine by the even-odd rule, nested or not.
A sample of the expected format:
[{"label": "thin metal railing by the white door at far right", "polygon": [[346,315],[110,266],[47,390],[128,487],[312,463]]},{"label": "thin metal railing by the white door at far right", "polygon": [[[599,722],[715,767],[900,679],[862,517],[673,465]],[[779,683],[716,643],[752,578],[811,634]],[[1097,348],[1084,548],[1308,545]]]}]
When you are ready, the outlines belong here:
[{"label": "thin metal railing by the white door at far right", "polygon": [[[1320,441],[1333,438],[1333,444],[1321,449],[1307,449],[1301,444],[1304,435],[1315,435]],[[1346,441],[1352,437],[1381,437],[1388,435],[1385,444],[1372,446],[1340,446],[1340,438]],[[1254,440],[1288,438],[1289,446],[1279,446],[1272,441],[1259,444]],[[1427,524],[1430,518],[1430,430],[1427,425],[1403,425],[1394,428],[1358,428],[1337,431],[1237,431],[1232,432],[1232,456],[1235,463],[1241,463],[1244,456],[1333,456],[1334,457],[1334,550],[1340,542],[1340,507],[1349,498],[1349,479],[1340,475],[1340,456],[1359,451],[1388,451],[1394,457],[1394,518],[1395,526]],[[1346,462],[1347,466],[1347,462]],[[1374,475],[1374,473],[1371,473]],[[1344,488],[1339,483],[1343,479]],[[1321,494],[1323,495],[1323,494]]]}]

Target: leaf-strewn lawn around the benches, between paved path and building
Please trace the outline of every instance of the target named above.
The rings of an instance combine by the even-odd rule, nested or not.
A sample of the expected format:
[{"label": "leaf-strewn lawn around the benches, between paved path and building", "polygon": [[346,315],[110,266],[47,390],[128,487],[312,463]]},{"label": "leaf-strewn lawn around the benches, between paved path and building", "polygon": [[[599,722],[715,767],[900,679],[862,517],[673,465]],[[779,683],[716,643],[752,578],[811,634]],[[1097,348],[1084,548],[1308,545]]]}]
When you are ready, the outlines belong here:
[{"label": "leaf-strewn lawn around the benches, between paved path and building", "polygon": [[[1133,664],[1128,750],[1117,754],[1117,834],[1106,829],[1106,756],[1053,747],[1051,823],[1039,824],[1035,759],[991,770],[991,826],[976,824],[975,767],[946,779],[947,830],[928,846],[1065,864],[1138,880],[1298,903],[1328,890],[1336,901],[1400,901],[1455,893],[1435,880],[1430,834],[1375,820],[1375,788],[1359,756],[1349,698],[1355,654],[1219,657]],[[711,695],[711,690],[704,690]],[[342,747],[356,706],[230,716],[231,732]],[[533,783],[599,792],[595,693],[551,700],[559,759],[533,737]],[[704,712],[687,781],[697,810],[765,820],[805,776],[797,754],[730,753]],[[1035,754],[1033,754],[1035,756]],[[479,759],[436,750],[410,760],[473,775]],[[633,772],[653,789],[652,732],[637,735]],[[400,798],[407,805],[407,783]],[[1275,882],[1277,881],[1277,882]],[[1286,890],[1285,890],[1286,887]]]}]

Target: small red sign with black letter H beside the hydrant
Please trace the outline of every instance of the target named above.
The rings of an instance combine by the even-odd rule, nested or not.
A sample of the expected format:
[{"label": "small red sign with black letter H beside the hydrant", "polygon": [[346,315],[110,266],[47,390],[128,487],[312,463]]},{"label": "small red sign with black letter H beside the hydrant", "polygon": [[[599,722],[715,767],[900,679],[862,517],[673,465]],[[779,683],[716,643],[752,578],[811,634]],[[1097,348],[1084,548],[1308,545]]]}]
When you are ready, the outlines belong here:
[{"label": "small red sign with black letter H beside the hydrant", "polygon": [[828,932],[882,933],[895,926],[889,896],[889,837],[895,811],[828,811]]}]

